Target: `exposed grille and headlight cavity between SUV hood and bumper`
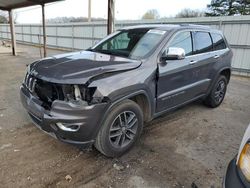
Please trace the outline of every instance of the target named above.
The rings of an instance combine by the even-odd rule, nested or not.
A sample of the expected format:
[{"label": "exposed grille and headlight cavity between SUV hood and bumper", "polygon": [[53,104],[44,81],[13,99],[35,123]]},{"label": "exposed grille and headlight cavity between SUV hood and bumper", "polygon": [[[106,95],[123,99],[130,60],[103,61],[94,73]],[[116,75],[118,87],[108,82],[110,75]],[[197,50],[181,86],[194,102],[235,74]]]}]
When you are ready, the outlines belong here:
[{"label": "exposed grille and headlight cavity between SUV hood and bumper", "polygon": [[96,87],[87,87],[85,84],[57,84],[38,79],[27,73],[24,85],[38,97],[42,106],[50,110],[52,103],[56,100],[65,101],[79,106],[93,105],[107,102]]}]

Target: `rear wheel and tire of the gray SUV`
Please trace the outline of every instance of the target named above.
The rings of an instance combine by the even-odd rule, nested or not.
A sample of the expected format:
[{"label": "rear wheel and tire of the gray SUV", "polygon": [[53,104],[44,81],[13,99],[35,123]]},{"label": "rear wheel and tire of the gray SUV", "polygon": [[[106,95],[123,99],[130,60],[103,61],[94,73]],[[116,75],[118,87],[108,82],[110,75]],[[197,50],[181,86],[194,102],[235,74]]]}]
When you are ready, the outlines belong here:
[{"label": "rear wheel and tire of the gray SUV", "polygon": [[219,78],[216,80],[215,84],[213,85],[211,92],[204,100],[204,104],[211,108],[216,108],[220,106],[226,95],[227,82],[227,78],[223,75],[220,75]]}]

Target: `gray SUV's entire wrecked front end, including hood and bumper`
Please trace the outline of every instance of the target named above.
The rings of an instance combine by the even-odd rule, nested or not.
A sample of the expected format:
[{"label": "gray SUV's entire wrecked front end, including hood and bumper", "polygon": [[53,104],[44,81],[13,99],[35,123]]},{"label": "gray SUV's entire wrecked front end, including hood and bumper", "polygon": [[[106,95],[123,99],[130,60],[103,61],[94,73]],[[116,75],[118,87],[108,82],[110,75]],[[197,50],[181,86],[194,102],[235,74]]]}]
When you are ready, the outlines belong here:
[{"label": "gray SUV's entire wrecked front end, including hood and bumper", "polygon": [[27,67],[21,102],[37,127],[50,135],[77,145],[93,143],[111,101],[92,82],[141,64],[90,51],[38,60]]}]

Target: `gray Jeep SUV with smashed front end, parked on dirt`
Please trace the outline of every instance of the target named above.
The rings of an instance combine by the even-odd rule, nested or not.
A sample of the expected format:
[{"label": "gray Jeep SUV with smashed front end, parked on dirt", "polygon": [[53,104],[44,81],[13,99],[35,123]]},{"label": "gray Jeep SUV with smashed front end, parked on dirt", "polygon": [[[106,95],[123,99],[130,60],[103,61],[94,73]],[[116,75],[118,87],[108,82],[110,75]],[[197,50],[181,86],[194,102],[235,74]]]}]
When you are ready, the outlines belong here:
[{"label": "gray Jeep SUV with smashed front end, parked on dirt", "polygon": [[30,64],[21,101],[55,138],[117,157],[144,122],[197,99],[219,106],[231,60],[222,33],[206,26],[127,27],[85,51]]}]

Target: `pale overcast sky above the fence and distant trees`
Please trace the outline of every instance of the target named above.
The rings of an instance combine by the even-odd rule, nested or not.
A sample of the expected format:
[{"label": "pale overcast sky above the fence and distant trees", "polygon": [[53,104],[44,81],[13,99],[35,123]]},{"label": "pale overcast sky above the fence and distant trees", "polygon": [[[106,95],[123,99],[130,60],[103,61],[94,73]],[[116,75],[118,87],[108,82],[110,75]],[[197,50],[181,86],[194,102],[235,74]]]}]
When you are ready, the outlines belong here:
[{"label": "pale overcast sky above the fence and distant trees", "polygon": [[[92,0],[92,17],[107,18],[107,1]],[[206,8],[211,0],[115,0],[115,19],[137,20],[149,9],[156,9],[161,17],[175,16],[184,8]],[[41,23],[39,6],[15,10],[18,23]],[[46,18],[87,17],[88,0],[65,0],[47,4]]]}]

